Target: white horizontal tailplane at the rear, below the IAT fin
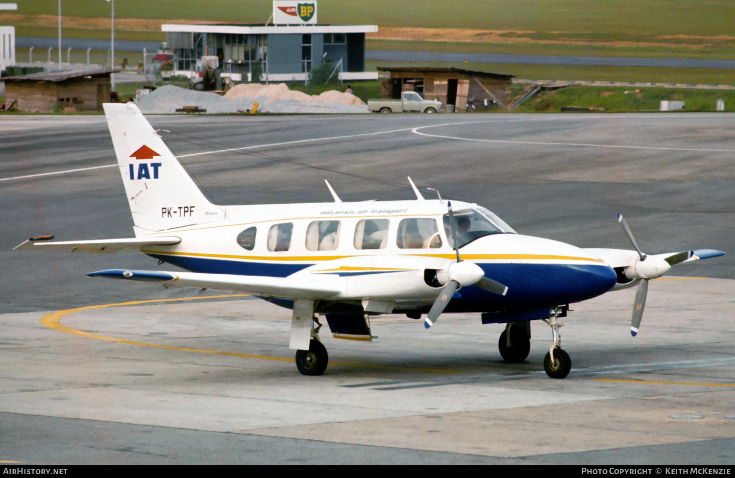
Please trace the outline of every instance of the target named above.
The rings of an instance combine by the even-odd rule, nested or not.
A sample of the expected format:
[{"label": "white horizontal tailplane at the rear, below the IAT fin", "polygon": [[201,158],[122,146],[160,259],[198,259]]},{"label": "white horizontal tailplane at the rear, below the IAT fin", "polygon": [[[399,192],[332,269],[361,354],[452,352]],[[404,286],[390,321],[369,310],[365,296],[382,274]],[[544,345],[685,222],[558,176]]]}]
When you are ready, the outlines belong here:
[{"label": "white horizontal tailplane at the rear, below the IAT fin", "polygon": [[12,250],[54,250],[71,253],[114,254],[121,250],[140,250],[140,246],[167,246],[182,242],[176,236],[130,237],[123,239],[92,239],[89,241],[55,241],[54,236],[34,236]]}]

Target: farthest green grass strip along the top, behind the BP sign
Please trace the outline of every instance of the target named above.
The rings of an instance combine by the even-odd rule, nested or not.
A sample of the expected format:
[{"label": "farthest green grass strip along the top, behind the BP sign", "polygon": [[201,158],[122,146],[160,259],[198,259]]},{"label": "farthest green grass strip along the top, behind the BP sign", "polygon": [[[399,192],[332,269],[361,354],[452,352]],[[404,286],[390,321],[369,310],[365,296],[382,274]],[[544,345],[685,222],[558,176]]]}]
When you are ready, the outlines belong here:
[{"label": "farthest green grass strip along the top, behind the BP sign", "polygon": [[[188,18],[264,22],[271,2],[218,0],[126,0],[118,18]],[[57,2],[19,2],[18,13],[57,15]],[[62,15],[109,17],[110,3],[65,1]],[[631,35],[732,35],[731,0],[319,0],[320,23],[378,24],[432,28],[512,29],[534,32],[594,32]]]}]

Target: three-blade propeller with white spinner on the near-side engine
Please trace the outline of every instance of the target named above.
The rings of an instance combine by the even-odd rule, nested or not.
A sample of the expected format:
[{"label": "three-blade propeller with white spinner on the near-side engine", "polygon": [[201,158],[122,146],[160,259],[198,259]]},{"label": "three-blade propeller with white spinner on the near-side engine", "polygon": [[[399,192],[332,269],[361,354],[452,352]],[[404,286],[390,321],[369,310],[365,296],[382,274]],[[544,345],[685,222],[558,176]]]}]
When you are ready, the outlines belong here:
[{"label": "three-blade propeller with white spinner on the near-side engine", "polygon": [[427,329],[434,325],[439,319],[444,309],[447,307],[454,293],[462,286],[478,286],[480,289],[492,292],[493,294],[505,295],[508,293],[508,288],[503,286],[497,280],[484,277],[485,272],[477,264],[471,262],[462,261],[459,256],[459,242],[457,241],[456,224],[454,221],[454,213],[452,211],[451,201],[447,202],[447,209],[449,212],[449,224],[451,225],[452,241],[454,244],[454,250],[456,250],[457,260],[446,270],[447,283],[439,293],[439,297],[431,305],[429,314],[426,315],[423,326]]}]

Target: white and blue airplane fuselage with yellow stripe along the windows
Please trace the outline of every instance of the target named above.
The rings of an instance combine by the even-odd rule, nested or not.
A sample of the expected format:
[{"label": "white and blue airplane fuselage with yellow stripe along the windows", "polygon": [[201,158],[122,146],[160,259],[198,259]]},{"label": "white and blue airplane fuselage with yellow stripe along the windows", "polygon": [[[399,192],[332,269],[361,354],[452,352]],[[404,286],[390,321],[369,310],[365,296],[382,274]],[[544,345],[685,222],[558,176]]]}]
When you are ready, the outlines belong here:
[{"label": "white and blue airplane fuselage with yellow stripe along the windows", "polygon": [[[458,211],[478,209],[470,203],[452,201],[452,204]],[[447,214],[446,200],[222,208],[226,220],[157,231],[156,236],[179,236],[182,241],[177,245],[141,247],[141,250],[191,272],[273,278],[293,275],[306,281],[324,276],[340,278],[345,283],[343,290],[324,297],[330,302],[325,310],[332,312],[355,312],[354,305],[368,299],[395,301],[394,312],[422,311],[434,302],[443,285],[427,283],[427,269],[446,269],[456,261],[448,240],[451,231],[442,227],[442,218]],[[439,239],[435,239],[434,247],[401,245],[398,226],[403,220],[413,219],[436,222]],[[387,221],[387,236],[380,249],[356,246],[358,225],[364,220]],[[308,247],[306,236],[314,222],[339,223],[337,241],[331,250]],[[268,231],[279,224],[292,225],[290,244],[287,250],[269,250]],[[255,228],[256,232],[254,244],[248,244],[251,249],[245,250],[238,244],[237,236],[248,228]],[[145,237],[142,232],[137,231],[137,235]],[[596,297],[616,284],[616,273],[603,259],[550,239],[514,232],[492,233],[460,247],[459,252],[463,261],[477,264],[487,277],[508,286],[509,291],[506,296],[500,296],[466,286],[454,294],[447,311],[520,312],[541,308],[548,316],[550,307]],[[334,305],[340,301],[345,307]],[[274,302],[290,305],[289,301]],[[501,316],[499,321],[506,322]]]}]

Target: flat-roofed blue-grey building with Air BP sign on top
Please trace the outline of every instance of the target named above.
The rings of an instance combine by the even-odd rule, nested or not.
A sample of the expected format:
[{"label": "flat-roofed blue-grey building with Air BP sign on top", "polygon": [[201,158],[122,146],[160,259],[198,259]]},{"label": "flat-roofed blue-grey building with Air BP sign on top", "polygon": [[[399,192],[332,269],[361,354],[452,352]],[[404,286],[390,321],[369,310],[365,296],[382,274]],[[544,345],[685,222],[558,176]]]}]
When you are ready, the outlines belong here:
[{"label": "flat-roofed blue-grey building with Air BP sign on top", "polygon": [[340,79],[377,79],[365,72],[365,34],[377,25],[320,25],[317,2],[273,1],[264,23],[163,24],[166,46],[177,72],[199,70],[201,57],[216,56],[223,76],[249,81],[304,81],[322,62],[337,68]]}]

